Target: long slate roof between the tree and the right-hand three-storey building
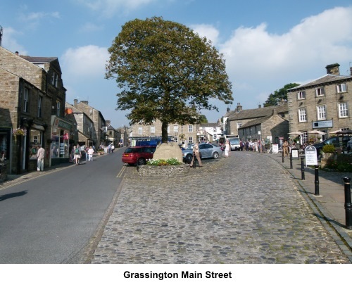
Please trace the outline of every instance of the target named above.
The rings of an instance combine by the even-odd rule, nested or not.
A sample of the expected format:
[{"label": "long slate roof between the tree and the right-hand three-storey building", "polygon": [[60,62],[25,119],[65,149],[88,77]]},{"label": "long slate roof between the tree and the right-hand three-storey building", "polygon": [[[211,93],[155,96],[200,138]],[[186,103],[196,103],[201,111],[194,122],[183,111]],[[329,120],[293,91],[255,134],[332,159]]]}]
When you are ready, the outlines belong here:
[{"label": "long slate roof between the tree and the right-hand three-storey building", "polygon": [[277,110],[277,113],[288,113],[289,108],[287,106],[287,102],[282,103],[282,105],[278,106],[269,106],[263,108],[256,108],[256,109],[248,109],[248,110],[241,110],[239,112],[232,111],[229,114],[228,120],[247,120],[247,119],[256,119],[256,118],[263,118],[272,115],[272,110]]}]

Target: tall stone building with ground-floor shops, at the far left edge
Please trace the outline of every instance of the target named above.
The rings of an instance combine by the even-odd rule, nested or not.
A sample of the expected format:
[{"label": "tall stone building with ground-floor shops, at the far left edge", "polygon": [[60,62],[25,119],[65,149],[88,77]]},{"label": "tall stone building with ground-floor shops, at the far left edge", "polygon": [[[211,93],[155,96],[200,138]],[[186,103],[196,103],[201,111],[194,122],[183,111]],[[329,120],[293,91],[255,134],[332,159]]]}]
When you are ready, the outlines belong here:
[{"label": "tall stone building with ground-floor shops, at the far left edge", "polygon": [[[0,138],[3,144],[6,141],[9,172],[34,170],[39,145],[46,149],[44,167],[68,161],[73,125],[64,118],[66,89],[58,58],[20,56],[0,46],[0,68],[0,98],[6,98],[0,101],[1,115],[12,114],[2,124],[7,131]],[[24,129],[25,134],[8,135],[8,128]]]}]

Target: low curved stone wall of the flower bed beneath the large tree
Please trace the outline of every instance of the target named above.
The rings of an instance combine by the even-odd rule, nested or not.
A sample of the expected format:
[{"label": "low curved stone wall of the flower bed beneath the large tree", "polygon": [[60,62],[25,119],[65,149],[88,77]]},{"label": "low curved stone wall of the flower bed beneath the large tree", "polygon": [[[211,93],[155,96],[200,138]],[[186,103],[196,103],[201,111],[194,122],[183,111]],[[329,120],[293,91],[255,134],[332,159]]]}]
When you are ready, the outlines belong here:
[{"label": "low curved stone wall of the flower bed beneath the large tree", "polygon": [[189,173],[189,164],[181,165],[138,165],[137,172],[141,177],[173,177]]}]

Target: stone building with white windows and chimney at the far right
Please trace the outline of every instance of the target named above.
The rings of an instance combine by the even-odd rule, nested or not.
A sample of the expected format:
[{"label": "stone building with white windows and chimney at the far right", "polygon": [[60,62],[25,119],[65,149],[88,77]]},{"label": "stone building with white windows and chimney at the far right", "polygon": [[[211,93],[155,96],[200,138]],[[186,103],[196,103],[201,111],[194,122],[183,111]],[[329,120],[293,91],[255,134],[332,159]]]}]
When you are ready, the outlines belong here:
[{"label": "stone building with white windows and chimney at the far right", "polygon": [[[352,68],[343,76],[339,64],[327,65],[327,75],[288,90],[290,132],[302,132],[301,143],[327,139],[329,132],[352,129]],[[319,130],[317,137],[309,134]]]}]

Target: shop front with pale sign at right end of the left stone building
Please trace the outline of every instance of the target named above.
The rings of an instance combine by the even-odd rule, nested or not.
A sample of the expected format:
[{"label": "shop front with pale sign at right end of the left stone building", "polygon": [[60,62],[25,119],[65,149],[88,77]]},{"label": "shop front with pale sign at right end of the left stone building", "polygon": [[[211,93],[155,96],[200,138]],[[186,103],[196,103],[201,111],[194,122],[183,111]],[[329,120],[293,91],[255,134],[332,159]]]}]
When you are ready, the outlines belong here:
[{"label": "shop front with pale sign at right end of the left stone building", "polygon": [[48,140],[46,153],[50,158],[50,165],[68,163],[70,160],[70,132],[73,125],[61,118],[51,118],[51,139]]}]

